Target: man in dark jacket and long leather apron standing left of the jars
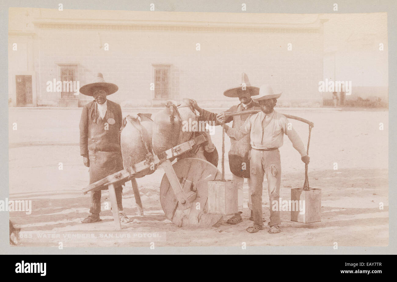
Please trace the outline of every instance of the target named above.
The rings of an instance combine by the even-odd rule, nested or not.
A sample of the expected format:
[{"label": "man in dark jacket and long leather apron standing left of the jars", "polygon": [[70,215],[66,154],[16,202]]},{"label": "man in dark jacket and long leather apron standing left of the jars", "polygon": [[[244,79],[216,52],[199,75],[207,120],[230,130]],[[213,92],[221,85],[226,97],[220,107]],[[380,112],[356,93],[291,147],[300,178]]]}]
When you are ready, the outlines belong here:
[{"label": "man in dark jacket and long leather apron standing left of the jars", "polygon": [[[80,88],[80,93],[94,97],[94,101],[83,107],[80,119],[80,155],[83,156],[84,165],[90,168],[90,184],[123,169],[119,134],[123,120],[121,107],[106,99],[107,95],[118,89],[116,84],[105,82],[101,73],[98,73],[93,83]],[[119,218],[121,222],[128,223],[130,220],[121,204],[121,184],[114,185]],[[107,189],[106,186],[101,188]],[[83,223],[100,221],[101,190],[91,192],[91,215]]]}]

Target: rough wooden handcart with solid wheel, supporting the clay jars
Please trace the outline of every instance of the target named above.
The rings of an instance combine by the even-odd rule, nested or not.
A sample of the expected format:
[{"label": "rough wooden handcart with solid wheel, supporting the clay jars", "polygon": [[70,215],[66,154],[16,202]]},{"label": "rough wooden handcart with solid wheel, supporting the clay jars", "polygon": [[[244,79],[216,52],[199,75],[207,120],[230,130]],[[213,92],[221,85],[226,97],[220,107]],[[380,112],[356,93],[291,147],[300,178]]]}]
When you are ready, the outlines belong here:
[{"label": "rough wooden handcart with solid wheel, supporting the clay jars", "polygon": [[[170,159],[192,150],[193,146],[206,141],[204,135],[200,135],[192,140],[179,144],[169,150],[155,155],[152,163],[146,160],[136,163],[121,171],[108,175],[83,188],[83,193],[95,191],[103,186],[108,186],[112,213],[116,229],[121,229],[121,222],[118,216],[116,193],[114,183],[118,181],[135,181],[134,175],[149,167],[162,167],[165,175],[160,185],[160,203],[167,216],[177,226],[212,226],[222,216],[209,214],[206,210],[207,205],[207,181],[220,178],[220,171],[210,162],[198,158],[178,159],[174,164]],[[136,183],[136,182],[135,182]],[[140,198],[137,185],[134,187],[135,200],[139,206]],[[139,206],[142,209],[142,206]]]}]

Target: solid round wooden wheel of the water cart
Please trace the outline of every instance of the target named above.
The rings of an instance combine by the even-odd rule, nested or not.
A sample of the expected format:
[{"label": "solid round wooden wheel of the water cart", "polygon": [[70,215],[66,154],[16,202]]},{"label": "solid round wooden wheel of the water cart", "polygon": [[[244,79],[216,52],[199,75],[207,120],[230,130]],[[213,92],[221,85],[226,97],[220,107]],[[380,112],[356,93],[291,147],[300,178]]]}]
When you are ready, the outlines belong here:
[{"label": "solid round wooden wheel of the water cart", "polygon": [[189,191],[196,192],[197,196],[191,203],[191,208],[182,210],[181,206],[178,206],[178,200],[164,174],[160,185],[160,203],[167,218],[179,227],[208,227],[216,224],[222,216],[207,213],[207,181],[220,179],[220,171],[212,163],[197,158],[180,159],[172,167],[182,185],[186,181],[188,183],[191,181],[192,184],[187,187],[190,188]]}]

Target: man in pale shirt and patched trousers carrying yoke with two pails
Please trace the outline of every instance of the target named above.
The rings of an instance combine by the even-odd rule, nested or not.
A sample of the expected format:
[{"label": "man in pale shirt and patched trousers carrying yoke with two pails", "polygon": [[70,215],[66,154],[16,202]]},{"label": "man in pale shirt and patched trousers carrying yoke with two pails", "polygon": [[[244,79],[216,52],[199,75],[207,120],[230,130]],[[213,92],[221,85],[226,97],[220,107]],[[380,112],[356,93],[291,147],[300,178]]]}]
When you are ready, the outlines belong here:
[{"label": "man in pale shirt and patched trousers carrying yoke with two pails", "polygon": [[[273,201],[279,201],[281,163],[278,148],[283,145],[283,137],[286,134],[292,142],[292,146],[301,154],[304,163],[309,163],[309,156],[306,154],[303,142],[297,132],[289,126],[288,119],[280,113],[274,111],[277,99],[281,93],[275,94],[272,87],[264,85],[260,87],[257,101],[262,111],[250,115],[240,127],[229,128],[222,120],[222,115],[218,115],[218,121],[223,124],[227,135],[230,138],[240,140],[249,135],[251,138],[251,183],[252,189],[252,208],[254,214],[254,226],[247,228],[249,233],[258,232],[263,229],[262,221],[262,183],[264,175],[268,180],[268,193],[270,206]],[[270,221],[268,225],[269,233],[281,231],[279,224],[280,212],[270,208]]]}]

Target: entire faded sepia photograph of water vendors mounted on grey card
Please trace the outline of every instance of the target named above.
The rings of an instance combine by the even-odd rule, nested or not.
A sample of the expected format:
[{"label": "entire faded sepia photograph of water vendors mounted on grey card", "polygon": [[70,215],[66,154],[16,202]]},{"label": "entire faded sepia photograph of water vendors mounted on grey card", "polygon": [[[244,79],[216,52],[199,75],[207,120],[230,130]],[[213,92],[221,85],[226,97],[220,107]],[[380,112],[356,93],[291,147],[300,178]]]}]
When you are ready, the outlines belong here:
[{"label": "entire faded sepia photograph of water vendors mounted on grey card", "polygon": [[389,245],[387,12],[54,5],[8,9],[13,249]]}]

